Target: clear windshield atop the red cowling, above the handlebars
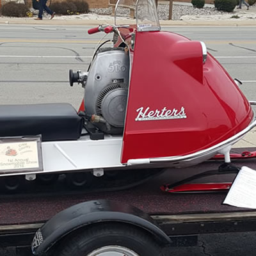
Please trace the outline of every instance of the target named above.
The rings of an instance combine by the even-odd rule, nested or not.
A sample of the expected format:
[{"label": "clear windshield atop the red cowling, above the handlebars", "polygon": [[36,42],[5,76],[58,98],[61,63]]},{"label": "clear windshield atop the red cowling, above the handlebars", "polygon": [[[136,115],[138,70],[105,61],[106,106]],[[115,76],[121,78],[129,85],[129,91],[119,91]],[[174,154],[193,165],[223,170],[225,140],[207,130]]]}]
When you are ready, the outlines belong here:
[{"label": "clear windshield atop the red cowling, above the handlebars", "polygon": [[132,24],[132,18],[134,18],[134,23],[136,21],[138,31],[159,31],[161,29],[155,0],[116,1],[115,25],[124,25],[125,19],[129,19],[129,24]]}]

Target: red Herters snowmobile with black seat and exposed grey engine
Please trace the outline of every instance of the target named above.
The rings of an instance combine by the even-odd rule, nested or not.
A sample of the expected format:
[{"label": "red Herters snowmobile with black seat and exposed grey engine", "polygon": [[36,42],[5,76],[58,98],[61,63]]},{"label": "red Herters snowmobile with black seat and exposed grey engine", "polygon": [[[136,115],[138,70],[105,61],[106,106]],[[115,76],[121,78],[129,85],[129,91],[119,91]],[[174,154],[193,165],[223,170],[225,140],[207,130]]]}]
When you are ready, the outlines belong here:
[{"label": "red Herters snowmobile with black seat and exposed grey engine", "polygon": [[[84,87],[79,111],[66,103],[0,106],[0,154],[10,145],[17,151],[0,157],[7,189],[20,177],[48,183],[60,173],[73,186],[100,179],[113,188],[216,154],[230,163],[232,145],[256,125],[254,103],[204,42],[161,31],[154,0],[136,2],[118,1],[115,25],[88,31],[113,40],[100,44],[87,72],[70,70],[70,85]],[[131,4],[136,24],[122,24],[120,7]]]}]

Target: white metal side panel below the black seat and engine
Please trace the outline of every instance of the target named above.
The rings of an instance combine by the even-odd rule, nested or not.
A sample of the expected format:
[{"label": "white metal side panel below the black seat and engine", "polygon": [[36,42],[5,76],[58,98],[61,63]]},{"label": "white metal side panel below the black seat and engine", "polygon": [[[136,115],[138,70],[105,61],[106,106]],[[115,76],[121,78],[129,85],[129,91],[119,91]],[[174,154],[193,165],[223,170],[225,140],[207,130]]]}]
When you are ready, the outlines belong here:
[{"label": "white metal side panel below the black seat and engine", "polygon": [[0,171],[0,177],[125,167],[120,163],[122,136],[105,136],[104,140],[90,140],[90,136],[86,135],[79,140],[43,141],[41,147],[42,171],[3,170]]}]

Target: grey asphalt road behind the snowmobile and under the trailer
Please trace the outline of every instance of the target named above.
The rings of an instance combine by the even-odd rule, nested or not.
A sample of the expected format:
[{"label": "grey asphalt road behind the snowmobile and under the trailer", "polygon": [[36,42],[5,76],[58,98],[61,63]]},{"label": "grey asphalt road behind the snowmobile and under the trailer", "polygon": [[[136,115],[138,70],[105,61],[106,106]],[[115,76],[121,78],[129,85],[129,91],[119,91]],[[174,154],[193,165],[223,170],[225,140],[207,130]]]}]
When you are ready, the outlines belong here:
[{"label": "grey asphalt road behind the snowmobile and under the trailer", "polygon": [[[0,26],[0,102],[26,104],[70,102],[76,108],[83,88],[68,85],[68,70],[86,70],[95,44],[102,36],[89,36],[86,26]],[[256,27],[164,27],[193,40],[208,51],[232,77],[243,81],[242,90],[256,99]],[[154,46],[152,46],[154,47]],[[255,232],[211,234],[198,237],[198,246],[169,248],[172,256],[254,256]],[[0,255],[15,255],[12,249]]]}]

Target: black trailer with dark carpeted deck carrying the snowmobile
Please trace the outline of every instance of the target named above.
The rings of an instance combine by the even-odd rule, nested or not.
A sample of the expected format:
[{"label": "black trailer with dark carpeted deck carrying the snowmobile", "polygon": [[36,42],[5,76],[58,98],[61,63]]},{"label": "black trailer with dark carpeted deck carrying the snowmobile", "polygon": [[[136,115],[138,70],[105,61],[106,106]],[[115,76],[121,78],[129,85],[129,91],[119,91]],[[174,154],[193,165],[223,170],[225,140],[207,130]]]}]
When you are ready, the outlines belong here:
[{"label": "black trailer with dark carpeted deck carrying the snowmobile", "polygon": [[[253,162],[237,160],[236,166],[255,168]],[[189,172],[219,165],[205,162]],[[222,204],[227,191],[170,194],[159,188],[166,179],[177,182],[187,172],[164,172],[115,192],[65,191],[60,186],[49,193],[33,194],[32,189],[1,196],[0,248],[15,246],[17,256],[79,255],[77,248],[83,248],[83,255],[170,255],[173,246],[196,246],[202,234],[256,231],[255,210]],[[214,175],[200,181],[232,182],[234,177]]]}]

